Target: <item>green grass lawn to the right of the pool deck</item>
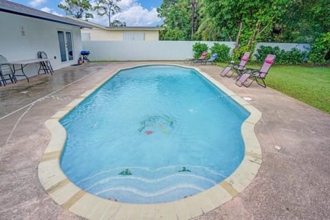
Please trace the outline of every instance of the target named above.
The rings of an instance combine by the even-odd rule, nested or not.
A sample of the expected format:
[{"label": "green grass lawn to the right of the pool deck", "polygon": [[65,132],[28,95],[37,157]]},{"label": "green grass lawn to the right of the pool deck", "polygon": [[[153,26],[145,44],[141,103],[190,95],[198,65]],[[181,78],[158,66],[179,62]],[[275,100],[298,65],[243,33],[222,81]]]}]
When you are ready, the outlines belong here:
[{"label": "green grass lawn to the right of the pool deck", "polygon": [[[260,68],[260,66],[248,67]],[[329,67],[274,65],[265,81],[272,89],[330,113]]]}]

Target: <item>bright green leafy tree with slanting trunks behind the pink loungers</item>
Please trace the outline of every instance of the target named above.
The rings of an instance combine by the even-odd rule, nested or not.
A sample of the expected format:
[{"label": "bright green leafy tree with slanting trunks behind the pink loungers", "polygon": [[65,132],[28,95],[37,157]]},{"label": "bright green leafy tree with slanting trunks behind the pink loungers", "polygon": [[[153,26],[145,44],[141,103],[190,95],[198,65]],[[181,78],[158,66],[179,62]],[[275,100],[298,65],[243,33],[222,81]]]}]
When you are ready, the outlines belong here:
[{"label": "bright green leafy tree with slanting trunks behind the pink loungers", "polygon": [[[236,41],[235,48],[253,52],[257,40],[264,40],[274,23],[286,12],[289,0],[204,0],[205,18],[197,34],[204,40]],[[206,39],[208,38],[208,39]]]}]

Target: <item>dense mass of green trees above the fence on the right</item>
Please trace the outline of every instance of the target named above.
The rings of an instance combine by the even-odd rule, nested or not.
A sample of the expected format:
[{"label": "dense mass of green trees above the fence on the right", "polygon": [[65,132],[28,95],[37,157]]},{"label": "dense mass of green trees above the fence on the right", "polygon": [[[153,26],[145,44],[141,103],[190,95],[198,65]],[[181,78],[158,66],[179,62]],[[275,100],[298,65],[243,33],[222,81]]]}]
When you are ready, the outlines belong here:
[{"label": "dense mass of green trees above the fence on the right", "polygon": [[162,38],[308,43],[330,31],[330,0],[164,0]]}]

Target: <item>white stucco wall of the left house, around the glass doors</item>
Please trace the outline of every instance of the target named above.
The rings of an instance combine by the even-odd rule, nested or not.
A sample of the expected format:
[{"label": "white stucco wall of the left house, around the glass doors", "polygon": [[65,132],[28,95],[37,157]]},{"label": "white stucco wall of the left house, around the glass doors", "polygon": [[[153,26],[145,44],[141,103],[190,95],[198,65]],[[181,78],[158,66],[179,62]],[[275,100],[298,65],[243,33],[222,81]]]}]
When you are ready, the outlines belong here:
[{"label": "white stucco wall of the left house, around the glass doors", "polygon": [[[0,12],[0,27],[0,54],[8,61],[37,58],[37,53],[43,51],[52,59],[53,69],[59,69],[77,63],[82,50],[80,28],[76,26]],[[72,33],[73,61],[61,62],[58,31]],[[39,65],[34,64],[24,70],[34,76],[38,69]]]}]

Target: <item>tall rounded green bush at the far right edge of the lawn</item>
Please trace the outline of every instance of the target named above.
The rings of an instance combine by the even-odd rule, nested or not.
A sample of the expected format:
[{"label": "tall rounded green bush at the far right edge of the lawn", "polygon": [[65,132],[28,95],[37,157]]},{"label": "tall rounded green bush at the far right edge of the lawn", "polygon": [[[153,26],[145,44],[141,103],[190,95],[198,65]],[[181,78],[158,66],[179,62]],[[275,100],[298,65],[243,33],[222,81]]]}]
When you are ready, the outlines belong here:
[{"label": "tall rounded green bush at the far right edge of the lawn", "polygon": [[[311,45],[309,63],[327,63],[330,59],[330,32],[321,36]],[[328,60],[328,61],[327,61]]]}]

